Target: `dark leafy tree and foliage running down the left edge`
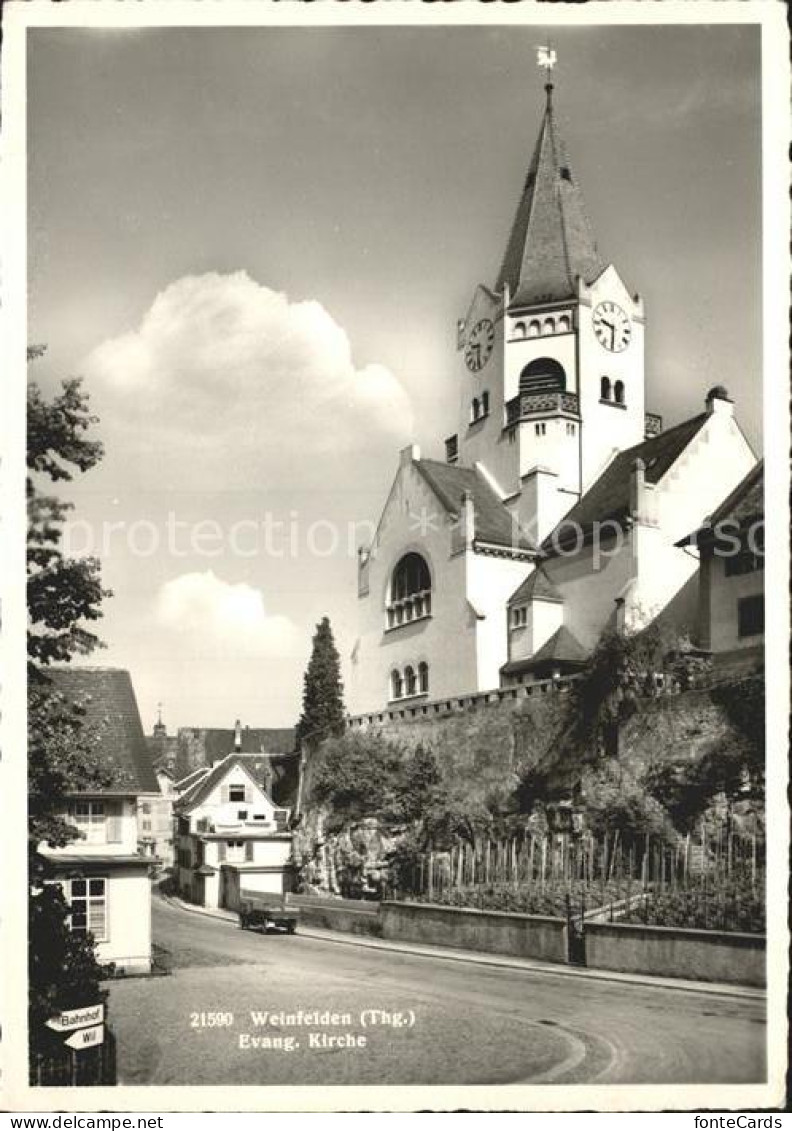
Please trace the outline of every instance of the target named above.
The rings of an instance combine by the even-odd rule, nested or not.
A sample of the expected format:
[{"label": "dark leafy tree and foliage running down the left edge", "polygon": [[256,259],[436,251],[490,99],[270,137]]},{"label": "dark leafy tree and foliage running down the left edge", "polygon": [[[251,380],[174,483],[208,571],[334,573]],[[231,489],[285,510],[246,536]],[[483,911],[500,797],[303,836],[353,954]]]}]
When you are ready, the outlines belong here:
[{"label": "dark leafy tree and foliage running down the left edge", "polygon": [[[28,360],[41,356],[28,351]],[[61,1009],[102,1000],[92,935],[72,934],[58,886],[43,883],[51,866],[38,853],[44,841],[62,846],[78,836],[66,819],[76,789],[109,784],[83,727],[83,713],[58,693],[46,668],[98,647],[86,625],[101,616],[98,562],[70,559],[62,549],[71,504],[51,493],[94,467],[102,444],[89,437],[96,423],[79,380],[64,381],[48,400],[35,382],[27,391],[27,602],[28,602],[28,978],[31,1052],[45,1051],[43,1022]]]}]

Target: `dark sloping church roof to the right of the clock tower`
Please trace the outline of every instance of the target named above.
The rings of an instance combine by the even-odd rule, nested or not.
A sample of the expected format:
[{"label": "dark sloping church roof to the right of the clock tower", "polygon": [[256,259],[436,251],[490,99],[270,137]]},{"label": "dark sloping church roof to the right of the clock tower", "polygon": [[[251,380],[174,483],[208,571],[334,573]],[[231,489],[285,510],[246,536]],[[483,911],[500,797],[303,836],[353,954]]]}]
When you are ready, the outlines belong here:
[{"label": "dark sloping church roof to the right of the clock tower", "polygon": [[620,451],[600,478],[565,515],[552,534],[544,539],[542,549],[552,556],[557,545],[574,541],[575,532],[578,528],[585,535],[594,523],[603,523],[606,519],[613,521],[625,519],[629,515],[630,475],[635,460],[643,459],[647,483],[658,483],[694,437],[704,428],[706,421],[707,414],[700,413],[689,421],[677,424],[675,428],[668,429],[649,440],[644,440],[632,448]]}]

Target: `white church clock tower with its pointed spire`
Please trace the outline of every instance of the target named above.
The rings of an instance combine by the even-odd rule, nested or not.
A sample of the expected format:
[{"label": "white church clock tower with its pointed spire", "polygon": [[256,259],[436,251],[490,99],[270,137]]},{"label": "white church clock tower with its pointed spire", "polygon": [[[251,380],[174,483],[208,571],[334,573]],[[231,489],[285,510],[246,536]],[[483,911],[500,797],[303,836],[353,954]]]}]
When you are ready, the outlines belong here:
[{"label": "white church clock tower with its pointed spire", "polygon": [[541,542],[617,451],[645,435],[644,308],[602,258],[545,106],[494,286],[457,326],[449,463],[485,474]]}]

